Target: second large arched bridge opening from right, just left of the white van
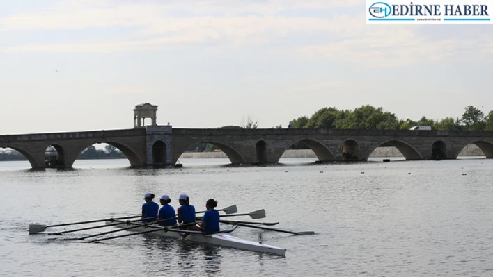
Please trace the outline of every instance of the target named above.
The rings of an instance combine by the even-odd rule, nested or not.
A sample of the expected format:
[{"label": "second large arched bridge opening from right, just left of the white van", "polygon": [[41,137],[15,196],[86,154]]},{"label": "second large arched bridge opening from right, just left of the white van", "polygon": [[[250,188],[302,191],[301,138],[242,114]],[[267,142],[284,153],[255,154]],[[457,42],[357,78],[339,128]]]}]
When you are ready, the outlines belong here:
[{"label": "second large arched bridge opening from right, just left of the white van", "polygon": [[369,158],[372,160],[420,160],[423,158],[421,153],[413,146],[400,140],[389,140],[379,144],[370,153]]}]

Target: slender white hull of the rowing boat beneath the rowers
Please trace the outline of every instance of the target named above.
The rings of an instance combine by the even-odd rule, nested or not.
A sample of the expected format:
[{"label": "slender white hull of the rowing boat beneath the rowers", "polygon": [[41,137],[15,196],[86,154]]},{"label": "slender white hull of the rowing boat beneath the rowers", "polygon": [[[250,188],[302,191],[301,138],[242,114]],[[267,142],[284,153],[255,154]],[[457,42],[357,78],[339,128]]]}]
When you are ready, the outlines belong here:
[{"label": "slender white hull of the rowing boat beneath the rowers", "polygon": [[[106,221],[105,224],[111,224],[114,221]],[[140,224],[132,224],[132,225],[140,225]],[[114,227],[117,228],[127,228],[127,224],[121,224],[121,225],[116,225]],[[142,226],[139,228],[133,228],[128,230],[129,232],[142,232],[145,230],[149,230],[149,228],[161,228],[161,226],[148,226],[147,228]],[[215,233],[212,235],[204,235],[201,232],[187,232],[189,235],[187,237],[183,238],[180,233],[178,232],[171,232],[171,231],[164,231],[164,230],[157,230],[155,232],[148,233],[149,235],[156,235],[159,237],[174,237],[177,239],[182,239],[190,242],[199,242],[199,243],[204,243],[204,244],[212,244],[212,245],[219,245],[219,246],[225,246],[225,247],[231,247],[235,249],[242,249],[242,250],[247,250],[247,251],[255,251],[255,252],[262,252],[262,253],[272,253],[274,255],[281,255],[285,257],[286,255],[286,249],[268,245],[268,244],[263,244],[260,242],[252,242],[249,240],[243,240],[239,237],[234,237],[232,235],[228,235],[227,233],[232,232],[236,228],[233,227],[230,230],[223,231],[221,233]]]}]

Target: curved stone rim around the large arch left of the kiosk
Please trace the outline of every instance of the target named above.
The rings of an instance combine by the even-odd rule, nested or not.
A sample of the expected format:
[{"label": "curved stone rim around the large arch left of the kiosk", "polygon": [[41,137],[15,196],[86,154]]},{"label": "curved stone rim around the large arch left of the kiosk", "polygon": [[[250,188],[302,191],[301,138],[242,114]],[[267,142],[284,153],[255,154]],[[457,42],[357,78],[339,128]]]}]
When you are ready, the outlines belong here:
[{"label": "curved stone rim around the large arch left of the kiosk", "polygon": [[118,150],[120,150],[123,153],[123,155],[125,155],[125,157],[127,157],[132,167],[139,167],[143,164],[143,162],[139,158],[138,153],[136,153],[136,151],[134,150],[134,148],[132,148],[132,146],[114,138],[102,138],[99,140],[88,141],[85,142],[84,144],[77,144],[77,146],[74,147],[73,151],[65,155],[65,160],[64,160],[65,167],[72,167],[72,165],[75,162],[75,159],[77,158],[77,156],[79,156],[79,154],[82,151],[84,151],[89,146],[98,143],[106,143],[115,146]]}]

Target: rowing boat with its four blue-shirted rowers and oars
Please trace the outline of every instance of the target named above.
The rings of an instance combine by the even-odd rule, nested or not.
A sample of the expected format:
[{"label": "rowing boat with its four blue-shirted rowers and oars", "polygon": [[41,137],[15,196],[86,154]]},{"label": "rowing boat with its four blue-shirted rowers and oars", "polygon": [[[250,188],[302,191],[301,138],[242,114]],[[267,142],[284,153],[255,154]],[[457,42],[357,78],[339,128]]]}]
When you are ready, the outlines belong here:
[{"label": "rowing boat with its four blue-shirted rowers and oars", "polygon": [[[255,222],[255,221],[230,221],[220,219],[220,217],[232,217],[232,216],[249,216],[251,219],[261,219],[265,217],[265,210],[256,210],[254,212],[237,214],[236,205],[231,205],[229,207],[214,210],[217,206],[217,201],[214,199],[209,199],[206,203],[206,211],[201,211],[197,213],[204,213],[203,217],[196,217],[195,208],[193,205],[189,204],[189,197],[187,194],[180,195],[180,208],[178,208],[178,216],[175,215],[173,207],[168,204],[171,202],[169,196],[164,194],[159,199],[163,208],[157,211],[155,203],[153,204],[152,199],[154,194],[148,192],[144,199],[146,203],[142,208],[142,215],[129,216],[129,217],[116,217],[109,219],[97,219],[92,221],[81,221],[69,224],[56,224],[51,226],[41,225],[41,224],[30,224],[29,234],[36,234],[44,232],[47,228],[53,228],[58,226],[69,226],[76,224],[89,224],[95,222],[103,222],[104,225],[91,226],[86,228],[80,228],[75,230],[63,230],[58,233],[48,233],[48,235],[63,235],[65,233],[72,233],[81,230],[90,230],[95,228],[104,228],[109,226],[117,227],[116,230],[109,230],[103,233],[97,233],[94,235],[86,235],[84,237],[75,237],[65,240],[85,240],[84,242],[102,242],[104,240],[112,240],[118,237],[127,237],[130,235],[156,235],[159,237],[172,237],[180,240],[185,240],[189,242],[198,242],[203,244],[212,244],[217,246],[231,247],[235,249],[242,249],[246,251],[256,251],[262,253],[272,253],[274,255],[281,255],[285,257],[286,249],[272,246],[268,244],[263,244],[263,242],[252,242],[249,240],[244,240],[240,237],[234,237],[230,235],[238,226],[245,228],[258,228],[261,230],[270,230],[274,232],[290,233],[292,235],[313,235],[312,231],[308,232],[292,232],[289,230],[279,230],[275,228],[267,228],[264,226],[272,226],[279,224],[279,222],[265,223],[265,222]],[[185,206],[185,208],[183,208]],[[219,211],[224,212],[226,215],[219,215]],[[173,217],[164,218],[166,215],[172,215]],[[141,217],[141,219],[133,219],[136,217]],[[124,220],[127,219],[127,220]],[[176,219],[181,224],[176,224]],[[219,222],[223,224],[233,225],[226,230],[219,229]],[[262,226],[263,225],[263,226]],[[101,237],[102,235],[108,235],[110,233],[118,233],[121,231],[129,231],[125,235],[116,235],[113,237]],[[92,237],[94,240],[86,240]]]}]

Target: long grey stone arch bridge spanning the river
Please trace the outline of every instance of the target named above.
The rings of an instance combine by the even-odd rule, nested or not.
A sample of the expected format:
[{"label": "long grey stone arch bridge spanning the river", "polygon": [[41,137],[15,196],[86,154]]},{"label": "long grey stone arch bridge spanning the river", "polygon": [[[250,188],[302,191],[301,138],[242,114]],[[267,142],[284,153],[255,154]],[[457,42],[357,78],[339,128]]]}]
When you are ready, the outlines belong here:
[{"label": "long grey stone arch bridge spanning the river", "polygon": [[493,132],[392,131],[334,129],[187,129],[146,126],[110,131],[0,135],[0,148],[22,153],[33,168],[45,167],[45,151],[54,146],[61,167],[72,167],[81,151],[96,143],[122,151],[132,167],[175,165],[190,146],[210,143],[233,164],[278,162],[297,142],[309,146],[320,162],[367,160],[379,146],[395,146],[407,160],[455,159],[468,144],[493,158]]}]

